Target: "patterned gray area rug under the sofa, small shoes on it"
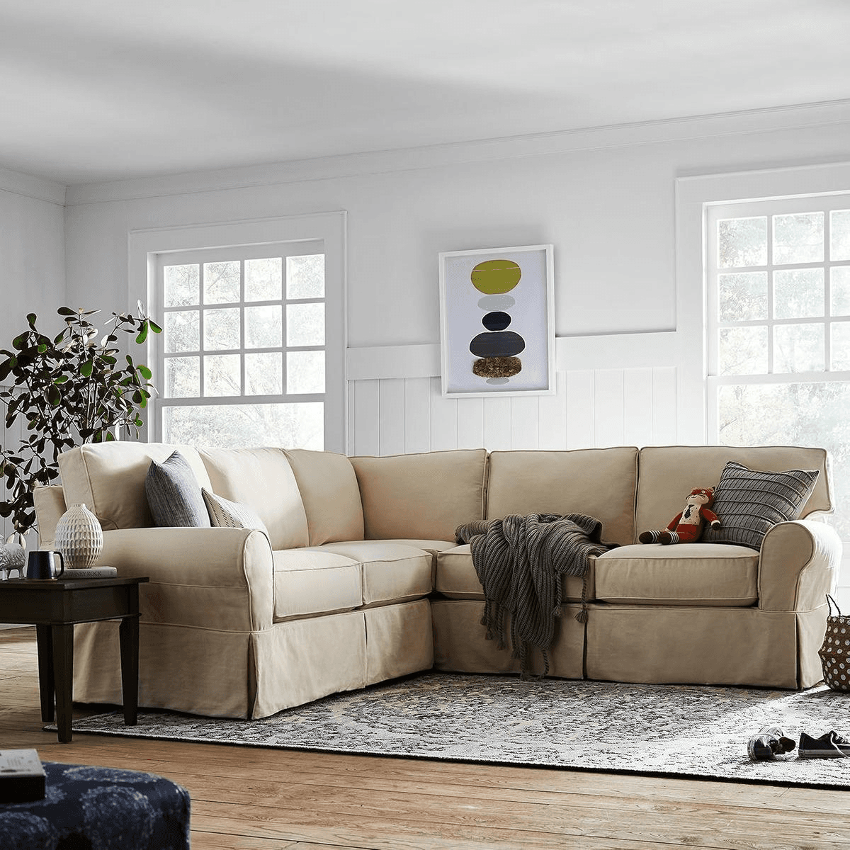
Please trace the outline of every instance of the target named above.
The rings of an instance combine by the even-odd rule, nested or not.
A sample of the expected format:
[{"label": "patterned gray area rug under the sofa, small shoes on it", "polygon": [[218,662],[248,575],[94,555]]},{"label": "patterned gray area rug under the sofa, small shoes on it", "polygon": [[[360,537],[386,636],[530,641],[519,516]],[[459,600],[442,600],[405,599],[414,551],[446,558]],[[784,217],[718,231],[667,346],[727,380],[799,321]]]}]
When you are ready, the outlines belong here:
[{"label": "patterned gray area rug under the sofa, small shoes on it", "polygon": [[120,712],[75,721],[75,733],[381,756],[580,768],[632,774],[850,787],[850,758],[751,762],[768,724],[797,740],[850,737],[850,694],[633,685],[427,673],[281,711],[263,720]]}]

